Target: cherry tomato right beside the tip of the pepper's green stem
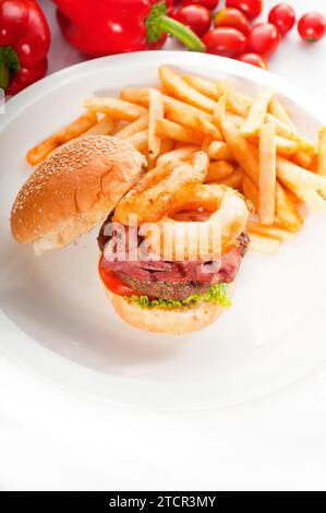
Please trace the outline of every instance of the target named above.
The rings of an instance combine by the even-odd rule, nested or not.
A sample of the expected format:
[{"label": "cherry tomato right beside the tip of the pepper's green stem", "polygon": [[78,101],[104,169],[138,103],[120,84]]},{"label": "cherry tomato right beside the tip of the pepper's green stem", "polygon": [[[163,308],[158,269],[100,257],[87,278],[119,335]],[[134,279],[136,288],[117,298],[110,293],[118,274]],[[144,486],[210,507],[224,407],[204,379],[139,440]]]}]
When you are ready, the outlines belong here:
[{"label": "cherry tomato right beside the tip of the pepper's green stem", "polygon": [[243,53],[246,47],[246,37],[237,28],[220,26],[209,31],[203,37],[208,53],[236,58]]}]

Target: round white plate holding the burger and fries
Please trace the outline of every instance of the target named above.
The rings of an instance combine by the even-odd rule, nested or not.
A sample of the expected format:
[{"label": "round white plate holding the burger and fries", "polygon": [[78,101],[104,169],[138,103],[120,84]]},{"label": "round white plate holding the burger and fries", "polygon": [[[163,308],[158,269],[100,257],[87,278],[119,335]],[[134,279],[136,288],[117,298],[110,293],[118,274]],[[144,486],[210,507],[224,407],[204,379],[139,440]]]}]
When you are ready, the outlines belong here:
[{"label": "round white plate holding the burger and fries", "polygon": [[325,213],[311,215],[277,255],[249,254],[233,307],[181,337],[136,331],[114,314],[97,277],[97,230],[38,259],[10,235],[10,207],[28,174],[26,150],[77,116],[85,97],[157,83],[162,63],[231,79],[246,93],[275,87],[307,136],[325,122],[323,107],[280,77],[188,52],[96,59],[20,94],[0,116],[0,350],[61,387],[108,402],[154,408],[239,403],[293,382],[326,356]]}]

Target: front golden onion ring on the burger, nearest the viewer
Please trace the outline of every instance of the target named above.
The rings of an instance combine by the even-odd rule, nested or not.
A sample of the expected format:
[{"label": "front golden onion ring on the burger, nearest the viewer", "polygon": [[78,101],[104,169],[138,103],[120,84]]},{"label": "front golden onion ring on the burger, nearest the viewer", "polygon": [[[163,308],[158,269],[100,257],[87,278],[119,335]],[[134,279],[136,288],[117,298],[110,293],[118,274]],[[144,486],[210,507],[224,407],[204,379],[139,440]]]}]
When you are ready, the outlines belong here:
[{"label": "front golden onion ring on the burger, nearest the viewer", "polygon": [[216,260],[231,249],[245,229],[249,208],[241,194],[226,186],[197,186],[184,208],[205,208],[212,215],[205,222],[178,222],[166,216],[156,229],[140,228],[153,253],[165,260]]}]

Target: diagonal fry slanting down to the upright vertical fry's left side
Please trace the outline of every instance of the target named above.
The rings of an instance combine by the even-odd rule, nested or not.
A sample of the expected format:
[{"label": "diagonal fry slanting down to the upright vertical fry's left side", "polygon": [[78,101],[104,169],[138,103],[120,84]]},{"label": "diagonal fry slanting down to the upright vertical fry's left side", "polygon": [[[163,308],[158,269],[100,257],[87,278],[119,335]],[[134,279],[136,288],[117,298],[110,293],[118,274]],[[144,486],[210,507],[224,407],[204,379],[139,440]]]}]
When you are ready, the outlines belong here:
[{"label": "diagonal fry slanting down to the upright vertical fry's left side", "polygon": [[240,167],[243,168],[254,183],[258,183],[259,165],[256,150],[240,134],[238,127],[230,117],[224,116],[221,130],[225,141]]}]

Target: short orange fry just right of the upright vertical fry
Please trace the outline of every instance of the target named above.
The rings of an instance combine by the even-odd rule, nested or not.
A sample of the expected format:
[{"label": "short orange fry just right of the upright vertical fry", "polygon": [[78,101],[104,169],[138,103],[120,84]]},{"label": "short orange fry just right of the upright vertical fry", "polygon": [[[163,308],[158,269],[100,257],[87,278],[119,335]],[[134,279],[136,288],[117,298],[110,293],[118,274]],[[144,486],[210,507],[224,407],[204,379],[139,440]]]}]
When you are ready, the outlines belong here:
[{"label": "short orange fry just right of the upright vertical fry", "polygon": [[275,192],[276,215],[281,226],[288,231],[298,231],[303,224],[303,219],[294,201],[278,181],[276,182]]}]

